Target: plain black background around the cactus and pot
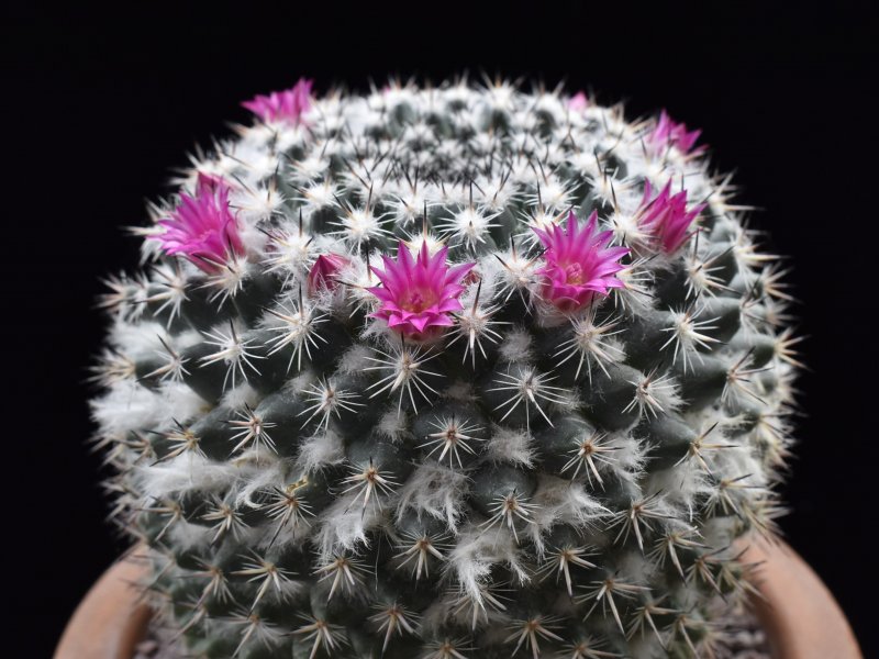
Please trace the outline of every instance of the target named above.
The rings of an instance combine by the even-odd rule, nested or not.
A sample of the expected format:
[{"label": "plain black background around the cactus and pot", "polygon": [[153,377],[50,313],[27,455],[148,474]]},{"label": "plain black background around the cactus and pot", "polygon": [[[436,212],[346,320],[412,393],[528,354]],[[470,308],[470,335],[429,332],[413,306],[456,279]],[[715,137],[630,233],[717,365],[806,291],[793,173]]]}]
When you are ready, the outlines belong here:
[{"label": "plain black background around the cactus and pot", "polygon": [[38,629],[27,656],[49,655],[124,547],[103,521],[85,384],[103,331],[99,278],[136,261],[121,227],[143,223],[144,201],[167,191],[170,168],[224,134],[225,121],[246,120],[238,103],[255,93],[303,75],[320,91],[363,90],[388,72],[438,81],[465,68],[565,79],[601,101],[626,100],[632,118],[667,108],[703,129],[715,164],[736,171],[742,201],[763,209],[753,225],[791,257],[811,367],[799,383],[805,416],[781,525],[865,655],[879,656],[869,3],[298,4],[148,15],[37,5],[3,21],[0,365],[13,395],[0,448],[3,617]]}]

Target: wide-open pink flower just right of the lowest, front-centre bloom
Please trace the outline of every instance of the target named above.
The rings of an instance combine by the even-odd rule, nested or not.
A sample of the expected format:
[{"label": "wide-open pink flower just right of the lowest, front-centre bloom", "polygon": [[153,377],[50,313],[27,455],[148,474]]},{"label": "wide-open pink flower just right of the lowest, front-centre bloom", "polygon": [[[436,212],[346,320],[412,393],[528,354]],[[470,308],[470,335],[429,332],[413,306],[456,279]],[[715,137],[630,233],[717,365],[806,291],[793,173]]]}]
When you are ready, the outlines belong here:
[{"label": "wide-open pink flower just right of the lowest, front-centre bloom", "polygon": [[546,231],[534,230],[546,247],[546,264],[536,270],[544,276],[543,298],[560,311],[576,311],[596,294],[607,295],[610,289],[623,286],[614,275],[625,267],[617,261],[628,249],[608,247],[613,232],[597,233],[597,219],[598,213],[592,211],[587,224],[580,227],[571,211],[567,232],[558,224]]}]

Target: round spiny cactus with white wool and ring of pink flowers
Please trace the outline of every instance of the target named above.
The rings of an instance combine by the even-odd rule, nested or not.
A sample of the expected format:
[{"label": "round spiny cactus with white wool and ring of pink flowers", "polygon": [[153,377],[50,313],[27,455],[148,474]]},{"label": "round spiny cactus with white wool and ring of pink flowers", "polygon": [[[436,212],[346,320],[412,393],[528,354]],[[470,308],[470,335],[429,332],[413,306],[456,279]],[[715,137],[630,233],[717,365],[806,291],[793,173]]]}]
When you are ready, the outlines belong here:
[{"label": "round spiny cactus with white wool and ring of pink flowers", "polygon": [[689,657],[797,339],[699,132],[466,79],[244,103],[108,280],[114,518],[192,657]]}]

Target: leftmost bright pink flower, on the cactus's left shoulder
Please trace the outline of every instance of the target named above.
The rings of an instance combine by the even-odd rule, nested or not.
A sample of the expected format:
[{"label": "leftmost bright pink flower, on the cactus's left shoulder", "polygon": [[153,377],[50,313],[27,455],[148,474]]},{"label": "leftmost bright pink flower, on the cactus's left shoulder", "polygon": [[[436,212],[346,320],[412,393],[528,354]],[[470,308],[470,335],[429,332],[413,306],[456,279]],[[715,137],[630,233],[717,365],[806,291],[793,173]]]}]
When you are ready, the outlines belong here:
[{"label": "leftmost bright pink flower, on the cactus's left shoulder", "polygon": [[156,236],[166,254],[179,254],[205,272],[223,267],[231,254],[243,256],[244,245],[229,209],[229,185],[222,178],[199,175],[196,194],[180,196],[180,204],[158,224]]}]

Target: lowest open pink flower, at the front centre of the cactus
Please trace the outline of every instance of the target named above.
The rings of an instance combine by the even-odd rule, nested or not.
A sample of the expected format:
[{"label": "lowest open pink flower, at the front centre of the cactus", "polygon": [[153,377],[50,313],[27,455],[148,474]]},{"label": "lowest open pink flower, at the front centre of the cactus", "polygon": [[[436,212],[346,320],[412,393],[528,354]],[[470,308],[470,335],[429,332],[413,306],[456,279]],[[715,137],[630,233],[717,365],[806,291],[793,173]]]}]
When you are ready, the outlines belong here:
[{"label": "lowest open pink flower, at the front centre of the cactus", "polygon": [[450,312],[464,309],[458,301],[465,289],[461,279],[476,264],[449,267],[447,252],[448,247],[442,247],[431,256],[425,242],[413,260],[401,241],[397,263],[382,256],[385,270],[371,268],[382,286],[367,289],[381,304],[370,315],[383,319],[394,332],[415,339],[436,335],[452,325]]}]

